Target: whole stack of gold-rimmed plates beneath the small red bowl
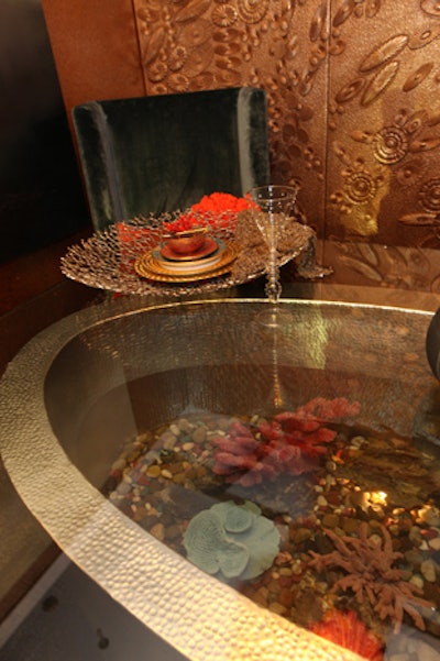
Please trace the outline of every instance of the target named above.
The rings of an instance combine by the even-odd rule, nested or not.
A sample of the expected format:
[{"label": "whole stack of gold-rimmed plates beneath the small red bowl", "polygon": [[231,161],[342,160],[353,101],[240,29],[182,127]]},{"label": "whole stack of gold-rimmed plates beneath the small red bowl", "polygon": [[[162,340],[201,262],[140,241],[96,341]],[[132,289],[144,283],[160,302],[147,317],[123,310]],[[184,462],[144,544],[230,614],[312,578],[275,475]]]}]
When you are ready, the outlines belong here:
[{"label": "whole stack of gold-rimmed plates beneath the small red bowl", "polygon": [[139,257],[134,267],[139,275],[151,280],[188,283],[228,273],[235,257],[232,242],[206,236],[201,246],[191,254],[179,254],[165,244]]}]

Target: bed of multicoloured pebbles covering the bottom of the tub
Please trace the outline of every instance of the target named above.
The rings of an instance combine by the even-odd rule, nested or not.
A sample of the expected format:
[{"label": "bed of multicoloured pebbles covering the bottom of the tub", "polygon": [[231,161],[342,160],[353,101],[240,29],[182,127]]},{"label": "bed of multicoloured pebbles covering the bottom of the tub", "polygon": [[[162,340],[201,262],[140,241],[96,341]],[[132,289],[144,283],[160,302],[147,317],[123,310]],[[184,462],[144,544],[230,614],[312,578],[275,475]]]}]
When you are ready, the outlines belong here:
[{"label": "bed of multicoloured pebbles covering the bottom of the tub", "polygon": [[[317,470],[250,487],[227,485],[212,472],[211,440],[227,436],[233,419],[179,418],[129,439],[105,494],[184,557],[185,530],[196,514],[219,500],[251,500],[277,526],[280,548],[270,570],[252,581],[234,580],[233,587],[306,628],[331,608],[353,610],[383,642],[384,659],[440,661],[439,458],[392,432],[341,423],[332,426],[338,433]],[[336,551],[336,538],[358,540],[361,529],[384,558],[398,554],[389,568],[415,595],[408,609],[400,613],[394,602],[388,616],[378,614],[374,603],[358,598],[355,582],[341,587],[351,570],[319,562]]]}]

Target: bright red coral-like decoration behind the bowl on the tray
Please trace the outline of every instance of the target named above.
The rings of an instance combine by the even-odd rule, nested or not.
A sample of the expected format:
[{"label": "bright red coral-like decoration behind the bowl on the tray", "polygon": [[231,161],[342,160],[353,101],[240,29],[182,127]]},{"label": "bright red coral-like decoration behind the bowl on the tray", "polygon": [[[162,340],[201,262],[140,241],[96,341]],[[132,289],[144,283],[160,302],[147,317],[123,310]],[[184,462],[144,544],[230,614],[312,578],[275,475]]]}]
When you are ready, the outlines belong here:
[{"label": "bright red coral-like decoration behind the bowl on the tray", "polygon": [[235,197],[230,192],[212,192],[205,195],[189,211],[172,222],[165,222],[164,228],[170,234],[188,232],[195,228],[209,225],[211,230],[234,231],[237,214],[246,209],[257,209],[255,202],[248,197]]}]

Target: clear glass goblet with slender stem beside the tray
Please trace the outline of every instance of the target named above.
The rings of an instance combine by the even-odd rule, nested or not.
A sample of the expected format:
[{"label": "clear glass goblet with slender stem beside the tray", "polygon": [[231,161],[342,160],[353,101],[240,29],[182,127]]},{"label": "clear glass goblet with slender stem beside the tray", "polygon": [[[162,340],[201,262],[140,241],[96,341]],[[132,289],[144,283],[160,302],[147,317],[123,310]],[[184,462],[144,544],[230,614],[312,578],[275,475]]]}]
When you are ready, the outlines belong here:
[{"label": "clear glass goblet with slender stem beside the tray", "polygon": [[265,293],[271,304],[277,304],[282,294],[279,282],[278,235],[283,232],[298,188],[296,186],[267,185],[250,190],[261,212],[255,214],[256,225],[268,249]]}]

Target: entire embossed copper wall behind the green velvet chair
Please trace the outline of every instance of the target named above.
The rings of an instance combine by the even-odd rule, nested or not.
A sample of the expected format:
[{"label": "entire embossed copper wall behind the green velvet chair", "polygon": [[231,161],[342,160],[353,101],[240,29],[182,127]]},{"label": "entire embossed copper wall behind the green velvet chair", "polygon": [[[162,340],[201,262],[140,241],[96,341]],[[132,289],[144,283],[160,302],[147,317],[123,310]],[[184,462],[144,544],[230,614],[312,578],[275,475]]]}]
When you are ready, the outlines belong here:
[{"label": "entire embossed copper wall behind the green velvet chair", "polygon": [[[273,179],[300,184],[300,209],[334,258],[367,284],[405,286],[389,276],[397,263],[417,272],[413,287],[437,288],[420,265],[420,249],[439,247],[436,0],[108,5],[43,0],[68,112],[92,98],[262,87]],[[346,242],[359,244],[349,256]],[[397,246],[392,266],[376,245]]]}]

